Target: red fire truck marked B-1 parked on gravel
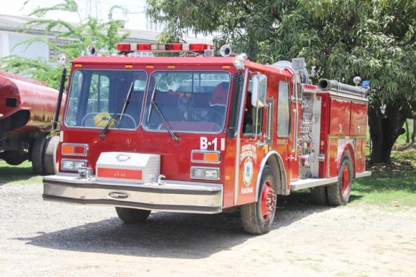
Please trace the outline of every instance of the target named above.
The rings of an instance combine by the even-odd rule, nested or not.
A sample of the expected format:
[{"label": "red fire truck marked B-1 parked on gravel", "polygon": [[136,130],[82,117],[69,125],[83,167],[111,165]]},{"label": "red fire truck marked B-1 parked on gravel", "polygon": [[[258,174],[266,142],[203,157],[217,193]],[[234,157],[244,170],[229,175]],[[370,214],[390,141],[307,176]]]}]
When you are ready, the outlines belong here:
[{"label": "red fire truck marked B-1 parked on gravel", "polygon": [[352,179],[370,175],[367,82],[313,85],[304,59],[258,64],[229,46],[221,57],[209,44],[117,49],[72,61],[45,200],[115,206],[127,223],[239,210],[243,229],[263,234],[277,195],[309,188],[318,204],[343,205]]}]

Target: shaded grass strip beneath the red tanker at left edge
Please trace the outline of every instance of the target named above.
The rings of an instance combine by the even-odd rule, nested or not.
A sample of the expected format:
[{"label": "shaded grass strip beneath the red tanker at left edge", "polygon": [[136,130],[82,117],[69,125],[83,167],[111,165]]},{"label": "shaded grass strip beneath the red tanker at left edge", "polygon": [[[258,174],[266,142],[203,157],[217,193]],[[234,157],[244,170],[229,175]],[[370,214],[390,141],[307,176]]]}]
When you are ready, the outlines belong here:
[{"label": "shaded grass strip beneath the red tanker at left edge", "polygon": [[42,176],[32,174],[32,163],[29,161],[20,166],[9,166],[0,161],[0,185],[3,184],[42,184]]}]

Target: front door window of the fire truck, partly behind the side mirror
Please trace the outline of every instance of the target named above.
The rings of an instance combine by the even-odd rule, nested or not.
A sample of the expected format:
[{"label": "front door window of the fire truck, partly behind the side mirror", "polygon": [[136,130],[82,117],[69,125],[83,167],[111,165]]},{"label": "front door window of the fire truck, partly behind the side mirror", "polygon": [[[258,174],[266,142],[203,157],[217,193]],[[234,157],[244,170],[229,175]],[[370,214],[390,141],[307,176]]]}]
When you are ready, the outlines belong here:
[{"label": "front door window of the fire truck, partly behind the side mirror", "polygon": [[[263,132],[263,107],[253,107],[252,105],[252,79],[250,76],[247,97],[245,99],[245,109],[243,118],[243,134],[245,136],[257,136]],[[266,93],[267,79],[263,78],[259,85],[259,91]]]}]

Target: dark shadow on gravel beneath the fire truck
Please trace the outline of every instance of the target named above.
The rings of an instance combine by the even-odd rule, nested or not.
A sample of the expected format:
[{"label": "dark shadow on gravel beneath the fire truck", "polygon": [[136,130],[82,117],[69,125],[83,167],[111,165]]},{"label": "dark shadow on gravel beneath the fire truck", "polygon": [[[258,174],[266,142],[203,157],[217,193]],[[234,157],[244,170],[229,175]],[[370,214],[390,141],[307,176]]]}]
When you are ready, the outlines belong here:
[{"label": "dark shadow on gravel beneath the fire truck", "polygon": [[[330,207],[314,206],[299,196],[280,197],[272,231]],[[115,213],[115,211],[114,211]],[[37,247],[125,256],[200,259],[231,250],[255,238],[244,233],[239,213],[193,215],[152,213],[141,225],[123,224],[117,217],[33,238],[14,238]]]}]

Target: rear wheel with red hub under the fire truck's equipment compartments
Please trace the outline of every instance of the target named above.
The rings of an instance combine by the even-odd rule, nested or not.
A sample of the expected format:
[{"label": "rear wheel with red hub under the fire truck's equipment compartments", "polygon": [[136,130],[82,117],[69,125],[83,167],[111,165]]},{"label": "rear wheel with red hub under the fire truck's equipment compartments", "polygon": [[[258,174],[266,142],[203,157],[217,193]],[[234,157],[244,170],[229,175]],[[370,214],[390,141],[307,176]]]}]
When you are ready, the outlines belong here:
[{"label": "rear wheel with red hub under the fire truck's equipment compartments", "polygon": [[346,205],[351,193],[352,166],[349,154],[344,153],[338,171],[338,182],[327,186],[328,202],[332,206]]}]

